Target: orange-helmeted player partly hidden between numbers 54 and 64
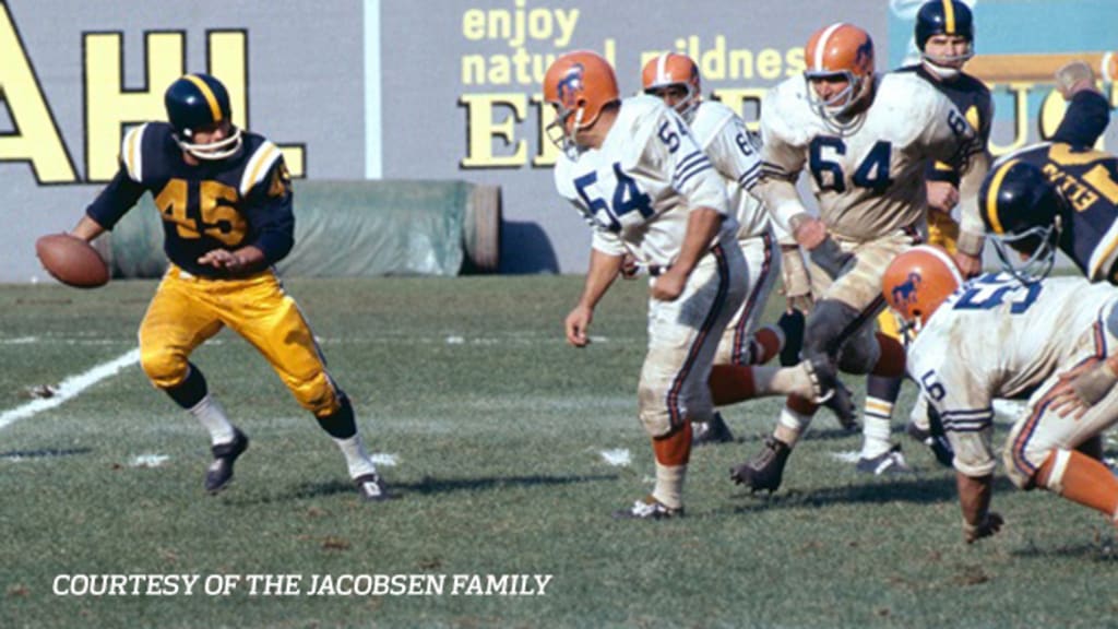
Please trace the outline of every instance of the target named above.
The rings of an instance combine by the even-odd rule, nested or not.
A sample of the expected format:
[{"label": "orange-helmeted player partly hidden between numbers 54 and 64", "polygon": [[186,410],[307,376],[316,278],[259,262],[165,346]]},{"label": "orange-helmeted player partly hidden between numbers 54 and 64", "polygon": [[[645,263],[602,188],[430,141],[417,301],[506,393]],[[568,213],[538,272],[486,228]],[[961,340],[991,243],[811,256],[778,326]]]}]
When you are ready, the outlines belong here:
[{"label": "orange-helmeted player partly hidden between numbers 54 and 64", "polygon": [[[809,298],[811,285],[796,241],[784,233],[777,238],[768,213],[749,194],[760,177],[760,139],[746,129],[745,122],[730,107],[703,98],[699,66],[691,57],[675,53],[660,55],[645,64],[641,78],[645,94],[663,100],[688,123],[699,148],[722,176],[738,222],[738,245],[746,259],[749,293],[722,335],[714,364],[762,365],[777,354],[781,356],[781,364],[797,363],[804,327],[799,308],[807,310],[798,300]],[[759,327],[765,303],[781,267],[788,311],[778,326]],[[721,382],[716,378],[712,385]],[[714,395],[719,396],[719,392]],[[692,431],[697,445],[733,439],[717,412],[710,422],[692,424]]]}]

